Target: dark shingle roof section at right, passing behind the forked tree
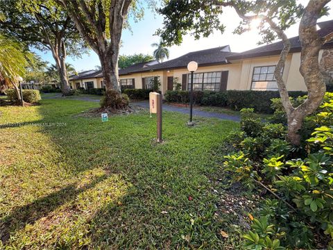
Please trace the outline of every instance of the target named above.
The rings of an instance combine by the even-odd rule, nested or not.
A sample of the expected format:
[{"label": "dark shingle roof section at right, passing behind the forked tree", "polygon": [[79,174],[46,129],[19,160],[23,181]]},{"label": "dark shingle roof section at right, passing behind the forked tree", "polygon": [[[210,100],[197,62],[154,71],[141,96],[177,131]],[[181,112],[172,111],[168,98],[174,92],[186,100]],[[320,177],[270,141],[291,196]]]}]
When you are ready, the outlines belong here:
[{"label": "dark shingle roof section at right, passing behind the forked tree", "polygon": [[[327,21],[327,22],[320,22],[318,23],[318,26],[321,28],[318,31],[318,35],[321,37],[324,37],[325,35],[333,32],[333,20]],[[299,52],[301,51],[302,47],[300,46],[300,38],[299,36],[294,38],[289,38],[289,41],[291,43],[291,49],[290,52]],[[333,40],[326,43],[323,48],[331,48],[333,47]],[[259,56],[273,56],[278,55],[281,53],[283,49],[283,43],[280,42],[274,42],[272,44],[267,44],[262,47],[257,47],[255,49],[250,49],[248,51],[241,52],[237,55],[228,56],[228,60],[237,60],[237,59],[245,59],[245,58],[254,58]]]}]

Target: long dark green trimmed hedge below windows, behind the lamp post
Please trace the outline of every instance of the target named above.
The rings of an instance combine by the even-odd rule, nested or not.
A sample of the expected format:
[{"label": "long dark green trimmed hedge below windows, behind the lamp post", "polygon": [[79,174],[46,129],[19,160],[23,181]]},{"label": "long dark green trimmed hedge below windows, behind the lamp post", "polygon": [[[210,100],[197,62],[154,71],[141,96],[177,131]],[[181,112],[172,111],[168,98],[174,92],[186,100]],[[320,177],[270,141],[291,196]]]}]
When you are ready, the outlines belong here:
[{"label": "long dark green trimmed hedge below windows, behind the lamp post", "polygon": [[[193,94],[196,105],[228,107],[232,110],[254,108],[255,112],[259,113],[273,113],[271,99],[280,97],[278,91],[253,90],[194,91]],[[290,97],[299,97],[305,94],[307,92],[289,92]],[[165,99],[171,103],[189,103],[189,92],[168,90]]]}]

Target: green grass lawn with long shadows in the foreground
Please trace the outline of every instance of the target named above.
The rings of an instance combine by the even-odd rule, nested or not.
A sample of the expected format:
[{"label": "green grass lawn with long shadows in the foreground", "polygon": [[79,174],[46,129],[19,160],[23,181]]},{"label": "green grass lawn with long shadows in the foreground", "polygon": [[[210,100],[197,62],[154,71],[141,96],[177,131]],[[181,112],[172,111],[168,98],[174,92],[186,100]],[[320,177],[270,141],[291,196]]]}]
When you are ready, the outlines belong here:
[{"label": "green grass lawn with long shadows in the foreground", "polygon": [[98,105],[0,107],[0,249],[239,248],[239,215],[216,213],[219,148],[239,125],[164,113],[156,144],[148,112],[76,116]]}]

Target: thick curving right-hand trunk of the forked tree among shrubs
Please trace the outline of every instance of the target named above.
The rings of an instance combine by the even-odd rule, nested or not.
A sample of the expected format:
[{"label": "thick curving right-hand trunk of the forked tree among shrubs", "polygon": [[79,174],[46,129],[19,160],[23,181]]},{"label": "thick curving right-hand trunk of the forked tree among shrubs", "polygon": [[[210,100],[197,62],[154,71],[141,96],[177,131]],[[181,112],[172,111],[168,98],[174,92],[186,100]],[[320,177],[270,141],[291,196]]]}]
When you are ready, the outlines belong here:
[{"label": "thick curving right-hand trunk of the forked tree among shrubs", "polygon": [[320,13],[327,4],[327,0],[309,1],[300,20],[300,74],[307,86],[307,99],[297,108],[287,111],[288,139],[292,144],[300,144],[298,131],[302,128],[303,120],[311,115],[321,105],[326,92],[326,85],[319,67],[319,51],[324,42],[317,33],[316,25]]}]

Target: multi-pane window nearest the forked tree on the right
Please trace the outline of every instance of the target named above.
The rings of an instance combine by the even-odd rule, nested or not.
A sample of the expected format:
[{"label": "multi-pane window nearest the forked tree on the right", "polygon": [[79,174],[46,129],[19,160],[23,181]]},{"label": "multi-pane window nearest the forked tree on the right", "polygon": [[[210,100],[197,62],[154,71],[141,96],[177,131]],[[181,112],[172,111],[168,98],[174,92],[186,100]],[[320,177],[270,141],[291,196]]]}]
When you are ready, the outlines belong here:
[{"label": "multi-pane window nearest the forked tree on the right", "polygon": [[278,90],[274,71],[275,66],[254,67],[251,90]]}]

